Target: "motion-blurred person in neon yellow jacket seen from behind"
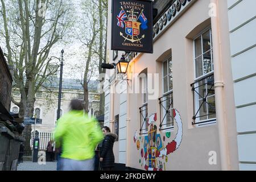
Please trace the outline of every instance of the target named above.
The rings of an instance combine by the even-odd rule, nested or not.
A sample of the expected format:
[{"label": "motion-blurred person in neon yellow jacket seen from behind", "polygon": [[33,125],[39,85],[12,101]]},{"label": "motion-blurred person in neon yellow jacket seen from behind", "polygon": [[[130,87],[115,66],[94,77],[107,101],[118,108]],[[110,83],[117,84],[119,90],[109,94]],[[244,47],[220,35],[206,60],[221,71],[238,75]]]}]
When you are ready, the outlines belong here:
[{"label": "motion-blurred person in neon yellow jacket seen from behind", "polygon": [[57,121],[56,147],[61,145],[60,171],[91,171],[94,150],[104,139],[98,122],[84,113],[82,101],[72,100],[71,110]]}]

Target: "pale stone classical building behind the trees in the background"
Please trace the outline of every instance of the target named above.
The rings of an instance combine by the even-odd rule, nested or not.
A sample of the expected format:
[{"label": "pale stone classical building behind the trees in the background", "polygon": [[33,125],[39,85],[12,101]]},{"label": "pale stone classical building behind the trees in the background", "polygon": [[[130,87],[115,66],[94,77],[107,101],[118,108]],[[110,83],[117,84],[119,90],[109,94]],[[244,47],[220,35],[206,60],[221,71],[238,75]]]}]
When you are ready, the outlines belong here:
[{"label": "pale stone classical building behind the trees in the background", "polygon": [[[37,130],[39,133],[52,133],[55,129],[57,120],[57,105],[59,94],[59,78],[55,78],[51,84],[45,85],[39,92],[36,92],[36,101],[34,105],[34,115],[36,118],[42,119],[42,124],[32,125],[32,131]],[[97,90],[97,81],[90,81],[89,89],[89,115],[97,114],[100,108],[100,93]],[[84,90],[79,80],[63,79],[61,92],[60,117],[69,110],[69,103],[72,99],[77,98],[84,100]],[[13,97],[16,101],[19,100],[19,90],[13,91]],[[19,107],[11,102],[11,110],[13,113],[19,112]]]}]

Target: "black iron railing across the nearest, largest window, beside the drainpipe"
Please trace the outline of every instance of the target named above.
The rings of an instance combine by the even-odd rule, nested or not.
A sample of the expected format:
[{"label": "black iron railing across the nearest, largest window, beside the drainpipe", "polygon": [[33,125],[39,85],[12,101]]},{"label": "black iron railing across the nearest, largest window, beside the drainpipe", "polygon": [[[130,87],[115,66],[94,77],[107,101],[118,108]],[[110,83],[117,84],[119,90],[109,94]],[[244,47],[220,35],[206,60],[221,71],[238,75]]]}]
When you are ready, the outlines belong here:
[{"label": "black iron railing across the nearest, largest window, beside the drainpipe", "polygon": [[[214,98],[214,73],[193,82],[191,86],[193,91],[192,125],[216,121],[215,99],[213,99],[213,103],[208,101],[210,97]],[[205,109],[205,106],[207,106],[208,109]],[[200,114],[202,109],[203,113],[206,114]]]}]

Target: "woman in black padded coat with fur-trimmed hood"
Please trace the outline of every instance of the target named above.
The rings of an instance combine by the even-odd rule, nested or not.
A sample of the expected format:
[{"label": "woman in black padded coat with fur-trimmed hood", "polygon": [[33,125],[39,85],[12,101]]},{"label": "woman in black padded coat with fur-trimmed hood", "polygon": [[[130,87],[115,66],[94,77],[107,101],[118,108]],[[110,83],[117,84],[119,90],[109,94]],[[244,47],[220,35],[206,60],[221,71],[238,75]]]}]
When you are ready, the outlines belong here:
[{"label": "woman in black padded coat with fur-trimmed hood", "polygon": [[111,133],[108,126],[102,127],[102,132],[105,137],[100,150],[101,167],[103,171],[111,171],[115,162],[113,146],[117,135]]}]

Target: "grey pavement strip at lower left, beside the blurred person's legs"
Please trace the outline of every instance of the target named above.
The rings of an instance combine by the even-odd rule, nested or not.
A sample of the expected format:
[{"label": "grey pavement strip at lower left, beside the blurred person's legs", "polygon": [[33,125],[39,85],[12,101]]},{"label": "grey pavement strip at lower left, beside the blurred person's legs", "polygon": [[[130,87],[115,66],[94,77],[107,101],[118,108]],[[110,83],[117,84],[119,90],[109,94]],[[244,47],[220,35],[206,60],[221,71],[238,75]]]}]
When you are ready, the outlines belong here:
[{"label": "grey pavement strip at lower left, beside the blurred person's legs", "polygon": [[46,162],[46,164],[38,164],[24,161],[18,164],[17,171],[56,171],[56,162]]}]

